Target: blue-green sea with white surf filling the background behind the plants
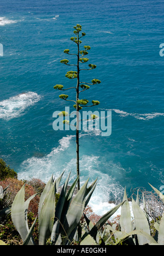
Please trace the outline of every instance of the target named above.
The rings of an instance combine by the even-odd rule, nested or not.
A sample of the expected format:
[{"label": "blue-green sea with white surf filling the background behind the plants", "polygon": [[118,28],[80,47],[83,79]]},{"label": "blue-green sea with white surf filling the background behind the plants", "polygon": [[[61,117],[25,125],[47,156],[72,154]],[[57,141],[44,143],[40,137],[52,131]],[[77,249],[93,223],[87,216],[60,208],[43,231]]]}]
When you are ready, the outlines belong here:
[{"label": "blue-green sea with white surf filling the background behind the plants", "polygon": [[55,131],[52,115],[72,107],[54,85],[75,85],[65,77],[73,67],[60,60],[76,61],[63,50],[77,50],[70,40],[77,24],[86,33],[81,49],[90,45],[97,65],[81,80],[101,80],[81,95],[101,102],[94,111],[112,111],[112,135],[80,131],[80,181],[98,177],[90,205],[103,214],[125,187],[130,196],[131,188],[164,184],[163,0],[1,0],[0,158],[19,179],[47,182],[63,170],[63,181],[70,171],[75,179],[75,132]]}]

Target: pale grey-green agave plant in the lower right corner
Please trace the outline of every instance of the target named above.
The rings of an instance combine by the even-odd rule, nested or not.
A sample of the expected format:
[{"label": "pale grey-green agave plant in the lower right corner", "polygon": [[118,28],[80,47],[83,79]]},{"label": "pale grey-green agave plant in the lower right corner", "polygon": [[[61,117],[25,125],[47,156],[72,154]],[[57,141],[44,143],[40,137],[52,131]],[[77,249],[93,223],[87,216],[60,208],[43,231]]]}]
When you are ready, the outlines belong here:
[{"label": "pale grey-green agave plant in the lower right corner", "polygon": [[[152,185],[151,187],[159,194],[161,200],[164,203],[164,195]],[[132,211],[133,218],[131,217],[130,205],[126,195],[126,189],[124,192],[125,202],[121,207],[120,216],[120,230],[115,230],[113,226],[107,225],[106,232],[113,232],[115,236],[115,245],[119,245],[126,241],[126,245],[164,245],[164,214],[162,215],[160,223],[155,223],[155,229],[157,230],[157,236],[154,238],[150,235],[150,222],[147,213],[144,211],[145,200],[143,197],[143,210],[139,206],[139,197],[134,201],[132,199]],[[106,244],[109,239],[106,240]]]}]

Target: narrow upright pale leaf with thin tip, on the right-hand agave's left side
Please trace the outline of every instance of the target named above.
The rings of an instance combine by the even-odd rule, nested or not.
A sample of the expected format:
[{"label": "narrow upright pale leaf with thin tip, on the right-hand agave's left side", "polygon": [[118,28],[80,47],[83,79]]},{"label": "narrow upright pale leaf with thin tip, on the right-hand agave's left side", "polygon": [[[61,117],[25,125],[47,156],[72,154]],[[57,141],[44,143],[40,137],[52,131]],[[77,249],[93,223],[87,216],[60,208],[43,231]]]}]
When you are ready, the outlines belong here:
[{"label": "narrow upright pale leaf with thin tip, on the right-hand agave's left side", "polygon": [[124,199],[125,203],[121,207],[121,217],[120,217],[120,226],[121,231],[129,233],[132,231],[132,220],[131,220],[131,210],[130,205],[128,203],[126,188],[124,191]]}]

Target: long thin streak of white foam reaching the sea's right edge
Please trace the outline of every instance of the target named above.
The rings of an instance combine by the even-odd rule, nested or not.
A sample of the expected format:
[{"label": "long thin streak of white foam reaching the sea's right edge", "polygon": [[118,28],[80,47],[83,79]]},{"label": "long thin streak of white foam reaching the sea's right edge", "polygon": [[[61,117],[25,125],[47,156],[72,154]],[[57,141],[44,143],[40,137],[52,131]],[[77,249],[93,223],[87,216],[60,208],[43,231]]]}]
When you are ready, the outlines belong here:
[{"label": "long thin streak of white foam reaching the sea's right edge", "polygon": [[114,111],[115,113],[119,114],[121,117],[134,117],[139,120],[149,120],[156,117],[164,116],[164,113],[149,113],[149,114],[138,114],[138,113],[127,113],[125,111],[119,109],[108,109],[110,111]]}]

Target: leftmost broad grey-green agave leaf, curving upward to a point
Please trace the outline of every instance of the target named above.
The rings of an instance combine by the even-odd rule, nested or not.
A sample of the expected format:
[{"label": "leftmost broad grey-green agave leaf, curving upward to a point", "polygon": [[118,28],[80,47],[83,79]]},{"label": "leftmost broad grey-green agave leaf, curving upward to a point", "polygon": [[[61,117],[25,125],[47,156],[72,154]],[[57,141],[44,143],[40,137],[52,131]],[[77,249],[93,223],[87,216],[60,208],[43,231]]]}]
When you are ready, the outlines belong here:
[{"label": "leftmost broad grey-green agave leaf, curving upward to a point", "polygon": [[[25,241],[28,233],[25,220],[25,184],[15,196],[11,206],[11,218],[22,240]],[[32,245],[32,242],[29,241],[28,245]]]}]

